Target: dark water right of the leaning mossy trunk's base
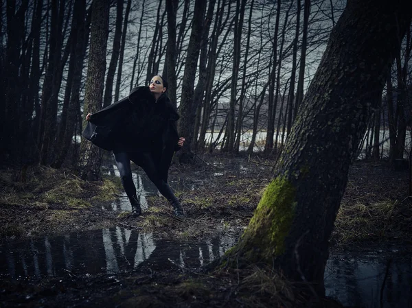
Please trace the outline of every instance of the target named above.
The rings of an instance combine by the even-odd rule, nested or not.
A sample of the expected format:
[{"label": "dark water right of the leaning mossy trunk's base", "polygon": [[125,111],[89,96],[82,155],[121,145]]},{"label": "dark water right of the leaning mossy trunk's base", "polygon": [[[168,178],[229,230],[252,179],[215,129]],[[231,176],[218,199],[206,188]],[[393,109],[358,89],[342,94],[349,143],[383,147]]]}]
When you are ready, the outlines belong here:
[{"label": "dark water right of the leaning mossy trunk's base", "polygon": [[334,255],[326,265],[326,295],[355,307],[412,307],[411,261],[396,255]]}]

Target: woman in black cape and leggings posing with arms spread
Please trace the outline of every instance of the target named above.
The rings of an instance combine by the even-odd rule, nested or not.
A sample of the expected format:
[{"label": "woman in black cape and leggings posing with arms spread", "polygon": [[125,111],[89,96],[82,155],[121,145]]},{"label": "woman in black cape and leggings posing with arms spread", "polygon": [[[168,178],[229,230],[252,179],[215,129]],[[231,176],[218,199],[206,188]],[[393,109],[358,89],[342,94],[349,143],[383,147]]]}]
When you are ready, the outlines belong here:
[{"label": "woman in black cape and leggings posing with arms spread", "polygon": [[125,99],[86,117],[89,127],[83,136],[106,150],[113,150],[122,185],[136,216],[141,214],[141,206],[130,161],[144,169],[170,202],[174,214],[183,216],[179,199],[168,185],[168,169],[185,138],[179,138],[177,133],[179,115],[165,93],[167,88],[167,82],[155,75],[149,86],[134,88]]}]

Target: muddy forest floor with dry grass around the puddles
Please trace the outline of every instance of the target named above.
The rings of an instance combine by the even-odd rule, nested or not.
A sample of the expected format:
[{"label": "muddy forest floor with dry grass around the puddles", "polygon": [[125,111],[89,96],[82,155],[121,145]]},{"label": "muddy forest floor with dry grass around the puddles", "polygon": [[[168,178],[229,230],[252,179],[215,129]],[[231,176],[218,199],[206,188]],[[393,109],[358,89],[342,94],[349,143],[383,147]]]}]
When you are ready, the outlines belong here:
[{"label": "muddy forest floor with dry grass around the puddles", "polygon": [[[160,197],[148,198],[139,217],[102,208],[119,197],[118,178],[92,183],[69,169],[1,169],[0,241],[123,226],[163,239],[203,241],[247,227],[274,161],[256,155],[205,155],[196,165],[172,165],[171,186],[185,217],[178,219]],[[385,161],[356,161],[331,238],[332,250],[403,246],[411,252],[412,206],[408,171]],[[179,189],[177,189],[179,187]],[[310,299],[311,298],[311,299]],[[316,303],[312,300],[318,300]],[[270,269],[212,273],[70,276],[65,279],[1,279],[0,307],[339,307],[313,299],[301,285]]]}]

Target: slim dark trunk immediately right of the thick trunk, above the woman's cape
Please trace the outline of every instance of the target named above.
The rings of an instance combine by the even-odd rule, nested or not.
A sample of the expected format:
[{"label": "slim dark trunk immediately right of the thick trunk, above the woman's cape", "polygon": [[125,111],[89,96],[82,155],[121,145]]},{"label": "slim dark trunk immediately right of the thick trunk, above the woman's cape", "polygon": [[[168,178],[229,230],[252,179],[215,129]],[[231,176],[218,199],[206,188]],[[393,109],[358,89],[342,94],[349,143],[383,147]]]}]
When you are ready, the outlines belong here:
[{"label": "slim dark trunk immediately right of the thick trunk, above the woman's cape", "polygon": [[120,43],[122,42],[123,4],[124,0],[117,0],[115,37],[113,38],[112,56],[107,69],[106,86],[104,87],[103,107],[106,107],[112,103],[113,84],[115,82],[117,61],[119,60]]}]

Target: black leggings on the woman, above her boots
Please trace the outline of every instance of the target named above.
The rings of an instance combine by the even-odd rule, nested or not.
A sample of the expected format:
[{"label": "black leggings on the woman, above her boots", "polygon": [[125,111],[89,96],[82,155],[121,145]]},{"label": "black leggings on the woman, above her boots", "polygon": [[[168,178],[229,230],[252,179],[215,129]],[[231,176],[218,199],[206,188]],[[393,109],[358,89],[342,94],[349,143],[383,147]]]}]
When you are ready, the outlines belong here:
[{"label": "black leggings on the woman, above her boots", "polygon": [[118,152],[114,153],[117,169],[119,169],[120,178],[126,195],[129,199],[136,196],[136,187],[133,183],[132,169],[130,168],[130,161],[133,161],[136,165],[139,165],[144,169],[148,178],[156,185],[160,193],[169,201],[176,200],[176,196],[167,182],[165,182],[157,170],[155,161],[150,153],[139,152]]}]

